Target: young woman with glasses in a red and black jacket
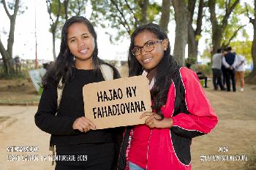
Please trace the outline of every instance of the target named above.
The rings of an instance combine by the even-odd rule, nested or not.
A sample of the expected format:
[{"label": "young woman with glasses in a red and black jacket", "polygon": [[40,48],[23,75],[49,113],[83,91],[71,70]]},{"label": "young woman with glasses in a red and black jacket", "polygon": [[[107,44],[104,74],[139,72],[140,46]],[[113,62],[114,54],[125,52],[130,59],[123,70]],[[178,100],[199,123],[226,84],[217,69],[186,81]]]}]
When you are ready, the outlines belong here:
[{"label": "young woman with glasses in a red and black jacket", "polygon": [[192,138],[208,134],[217,116],[197,74],[178,66],[167,34],[157,24],[135,29],[129,46],[129,76],[146,75],[152,112],[145,124],[127,127],[118,169],[191,169]]}]

